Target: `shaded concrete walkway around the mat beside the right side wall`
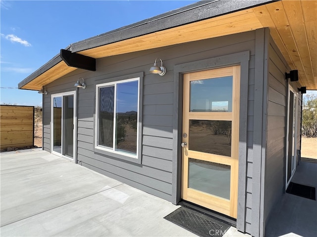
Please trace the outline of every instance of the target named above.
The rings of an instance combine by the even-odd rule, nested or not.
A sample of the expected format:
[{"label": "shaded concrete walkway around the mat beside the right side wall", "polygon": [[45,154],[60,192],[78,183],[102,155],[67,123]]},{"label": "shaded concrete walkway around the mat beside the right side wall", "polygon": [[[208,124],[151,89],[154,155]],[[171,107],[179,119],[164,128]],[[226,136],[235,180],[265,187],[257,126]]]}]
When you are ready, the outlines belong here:
[{"label": "shaded concrete walkway around the mat beside the right side wall", "polygon": [[[292,182],[317,189],[317,162],[301,161]],[[284,194],[271,214],[267,237],[317,237],[317,201]]]}]

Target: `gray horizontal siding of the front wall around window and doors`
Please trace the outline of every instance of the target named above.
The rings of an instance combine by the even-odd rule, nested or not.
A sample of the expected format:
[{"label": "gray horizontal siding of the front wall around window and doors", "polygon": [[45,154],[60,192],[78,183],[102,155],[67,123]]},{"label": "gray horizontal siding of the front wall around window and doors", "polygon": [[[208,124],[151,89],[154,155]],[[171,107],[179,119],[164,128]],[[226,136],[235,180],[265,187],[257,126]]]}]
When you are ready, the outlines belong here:
[{"label": "gray horizontal siding of the front wall around window and doors", "polygon": [[[264,29],[258,31],[264,32]],[[255,185],[260,187],[260,184],[257,182],[261,180],[261,173],[253,167],[253,164],[255,162],[259,165],[260,162],[261,165],[261,158],[258,159],[254,155],[254,144],[257,144],[255,142],[254,129],[260,129],[257,132],[257,136],[262,138],[262,125],[259,127],[257,122],[254,122],[254,118],[255,110],[259,104],[263,104],[263,97],[261,99],[260,96],[258,96],[258,99],[255,98],[259,90],[257,83],[263,83],[263,74],[258,79],[256,79],[256,75],[259,76],[261,74],[260,72],[264,70],[264,65],[261,65],[259,59],[257,59],[256,44],[264,48],[264,38],[261,38],[259,34],[257,38],[256,31],[253,31],[234,36],[200,40],[101,58],[97,60],[96,72],[78,69],[53,81],[46,86],[49,94],[44,96],[43,103],[44,150],[51,151],[51,94],[73,91],[76,89],[73,87],[74,83],[78,78],[82,77],[85,79],[87,88],[84,90],[81,88],[76,89],[78,107],[78,163],[145,192],[173,201],[172,189],[173,185],[176,184],[173,184],[172,181],[172,162],[173,159],[177,159],[177,157],[173,156],[173,153],[176,152],[177,154],[175,148],[172,147],[173,134],[175,132],[178,133],[175,129],[181,129],[181,124],[179,124],[178,128],[173,127],[175,109],[177,109],[174,105],[174,66],[249,51],[250,61],[247,67],[248,72],[244,73],[248,77],[242,79],[244,89],[246,90],[243,95],[245,101],[243,113],[245,115],[240,114],[240,116],[247,119],[244,124],[241,124],[244,127],[240,131],[243,134],[240,136],[240,148],[245,147],[244,151],[240,150],[241,154],[244,154],[242,155],[244,156],[244,160],[242,161],[244,167],[241,167],[241,170],[244,169],[246,175],[244,177],[239,176],[240,190],[238,197],[240,200],[238,203],[240,205],[239,208],[241,209],[242,206],[242,208],[245,207],[245,210],[243,210],[243,213],[239,213],[238,218],[239,220],[242,218],[243,222],[237,223],[237,225],[240,231],[258,236],[260,217],[257,213],[259,213],[260,206],[260,190],[259,188],[255,188]],[[257,50],[259,51],[259,49]],[[262,51],[260,61],[263,61],[264,50],[260,49],[260,51]],[[152,75],[148,72],[157,57],[162,58],[163,65],[167,68],[167,73],[163,77]],[[257,70],[258,72],[256,72]],[[141,164],[96,153],[94,149],[96,84],[105,83],[115,77],[140,72],[144,72],[142,115],[143,156]],[[261,146],[261,141],[257,145]],[[258,192],[256,196],[253,196],[254,190]],[[257,208],[254,209],[254,206],[257,206]],[[255,225],[254,228],[252,228],[253,225]]]}]

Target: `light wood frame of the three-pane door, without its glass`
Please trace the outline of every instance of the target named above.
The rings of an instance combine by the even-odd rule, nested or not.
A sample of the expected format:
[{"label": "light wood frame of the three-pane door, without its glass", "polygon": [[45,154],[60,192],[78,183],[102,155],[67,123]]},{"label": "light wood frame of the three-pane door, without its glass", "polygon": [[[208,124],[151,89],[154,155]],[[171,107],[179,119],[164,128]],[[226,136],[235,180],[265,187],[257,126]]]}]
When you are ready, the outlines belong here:
[{"label": "light wood frame of the three-pane door, without its glass", "polygon": [[[203,205],[214,211],[227,216],[237,218],[238,204],[238,164],[239,164],[239,113],[240,113],[240,65],[229,66],[218,69],[210,69],[195,73],[184,74],[183,77],[183,132],[188,134],[182,142],[188,144],[189,140],[189,120],[227,120],[231,121],[231,155],[220,156],[215,154],[204,154],[188,150],[188,147],[182,149],[182,198],[194,203]],[[212,76],[211,76],[212,75]],[[232,112],[189,112],[190,107],[190,82],[195,80],[212,79],[219,77],[232,76]],[[185,112],[185,110],[187,112]],[[185,130],[184,130],[185,129]],[[186,154],[187,153],[187,154]],[[201,191],[194,191],[188,187],[188,162],[189,156],[192,158],[203,158],[210,162],[226,164],[230,166],[230,199],[216,197]],[[200,157],[200,158],[199,158]],[[187,170],[185,172],[185,170]]]}]

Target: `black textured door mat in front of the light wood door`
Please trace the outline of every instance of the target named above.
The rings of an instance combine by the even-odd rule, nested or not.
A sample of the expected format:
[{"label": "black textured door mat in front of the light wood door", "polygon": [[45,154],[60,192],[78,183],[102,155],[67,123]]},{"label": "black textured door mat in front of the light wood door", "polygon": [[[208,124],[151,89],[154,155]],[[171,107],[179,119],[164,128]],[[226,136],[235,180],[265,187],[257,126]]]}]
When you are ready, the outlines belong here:
[{"label": "black textured door mat in front of the light wood door", "polygon": [[200,237],[222,237],[230,228],[227,224],[183,206],[165,216],[164,219]]}]

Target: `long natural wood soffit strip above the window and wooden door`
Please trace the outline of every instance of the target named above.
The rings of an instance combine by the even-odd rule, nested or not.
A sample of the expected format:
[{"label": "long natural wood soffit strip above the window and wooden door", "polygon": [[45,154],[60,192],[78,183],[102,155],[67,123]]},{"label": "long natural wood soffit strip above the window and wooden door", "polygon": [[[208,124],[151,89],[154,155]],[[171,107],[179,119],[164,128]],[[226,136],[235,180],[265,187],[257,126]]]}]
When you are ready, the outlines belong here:
[{"label": "long natural wood soffit strip above the window and wooden door", "polygon": [[[249,21],[246,21],[250,19]],[[134,39],[114,42],[98,48],[81,51],[81,54],[101,58],[190,41],[205,40],[262,28],[252,9],[211,18]]]}]

